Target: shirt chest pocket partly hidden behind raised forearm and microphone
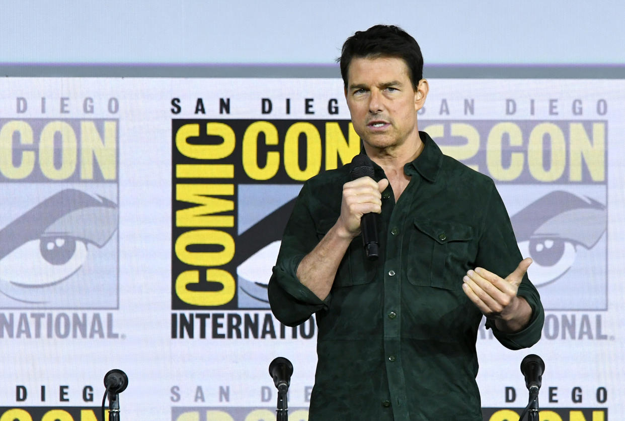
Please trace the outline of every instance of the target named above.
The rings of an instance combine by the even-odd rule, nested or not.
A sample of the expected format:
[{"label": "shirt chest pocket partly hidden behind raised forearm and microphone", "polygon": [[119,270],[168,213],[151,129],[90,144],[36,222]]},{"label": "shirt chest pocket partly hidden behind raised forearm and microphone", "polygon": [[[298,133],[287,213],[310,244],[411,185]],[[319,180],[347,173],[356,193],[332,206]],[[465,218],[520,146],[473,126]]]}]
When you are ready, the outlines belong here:
[{"label": "shirt chest pocket partly hidden behind raised forearm and microphone", "polygon": [[[336,223],[334,220],[322,220],[317,226],[317,238],[321,240]],[[349,244],[334,278],[334,287],[368,284],[376,277],[379,261],[369,261],[364,254],[362,236],[358,235]]]}]

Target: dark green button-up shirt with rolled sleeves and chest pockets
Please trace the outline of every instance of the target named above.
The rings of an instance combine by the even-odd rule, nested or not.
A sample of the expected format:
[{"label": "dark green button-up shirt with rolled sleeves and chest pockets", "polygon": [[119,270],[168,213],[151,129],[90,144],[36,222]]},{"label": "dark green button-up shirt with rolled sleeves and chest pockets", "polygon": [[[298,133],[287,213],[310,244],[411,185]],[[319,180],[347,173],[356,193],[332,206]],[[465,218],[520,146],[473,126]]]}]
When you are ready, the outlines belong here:
[{"label": "dark green button-up shirt with rolled sleeves and chest pockets", "polygon": [[[351,165],[306,181],[286,226],[269,302],[289,326],[316,314],[311,421],[482,420],[475,380],[482,314],[462,277],[479,266],[505,278],[522,257],[492,180],[420,135],[425,147],[404,167],[406,190],[397,203],[390,186],[382,193],[379,259],[367,261],[357,236],[324,301],[296,269],[336,223]],[[374,167],[376,180],[385,177]],[[525,329],[505,334],[486,322],[510,349],[535,344],[544,321],[527,276],[517,294],[532,307]]]}]

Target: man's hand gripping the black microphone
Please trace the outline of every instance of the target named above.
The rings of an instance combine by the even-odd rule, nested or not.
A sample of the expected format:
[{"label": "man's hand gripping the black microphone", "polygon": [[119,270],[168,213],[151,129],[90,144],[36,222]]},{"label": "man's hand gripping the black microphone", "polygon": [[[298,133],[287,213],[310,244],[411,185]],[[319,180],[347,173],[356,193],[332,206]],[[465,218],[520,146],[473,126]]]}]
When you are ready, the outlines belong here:
[{"label": "man's hand gripping the black microphone", "polygon": [[389,185],[387,178],[380,181],[361,177],[343,185],[341,215],[336,221],[337,234],[342,238],[354,238],[360,233],[362,215],[382,212],[382,191]]}]

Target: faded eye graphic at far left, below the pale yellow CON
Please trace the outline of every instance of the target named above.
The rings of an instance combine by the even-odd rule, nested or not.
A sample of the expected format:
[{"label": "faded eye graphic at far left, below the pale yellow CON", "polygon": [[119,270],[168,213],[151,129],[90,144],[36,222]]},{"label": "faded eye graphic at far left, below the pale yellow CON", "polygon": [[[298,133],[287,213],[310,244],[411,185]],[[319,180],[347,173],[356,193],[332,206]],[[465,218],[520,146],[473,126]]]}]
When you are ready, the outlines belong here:
[{"label": "faded eye graphic at far left, below the pale yellow CON", "polygon": [[0,230],[0,307],[118,307],[118,207],[61,190]]}]

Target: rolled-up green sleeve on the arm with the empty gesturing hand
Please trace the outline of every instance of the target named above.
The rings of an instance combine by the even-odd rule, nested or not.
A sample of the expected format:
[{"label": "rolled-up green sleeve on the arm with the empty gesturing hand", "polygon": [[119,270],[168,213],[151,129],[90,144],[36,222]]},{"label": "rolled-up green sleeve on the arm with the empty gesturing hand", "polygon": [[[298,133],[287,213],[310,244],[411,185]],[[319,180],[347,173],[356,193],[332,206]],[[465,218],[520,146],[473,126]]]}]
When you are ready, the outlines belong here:
[{"label": "rolled-up green sleeve on the arm with the empty gesturing hand", "polygon": [[[516,269],[522,260],[512,224],[499,192],[492,184],[491,198],[487,205],[484,229],[479,240],[477,265],[505,278]],[[494,321],[487,319],[486,327],[492,329],[494,336],[509,349],[531,347],[541,338],[544,324],[544,309],[536,287],[527,274],[523,276],[517,296],[526,299],[532,309],[532,316],[521,331],[506,333],[495,327]]]}]

